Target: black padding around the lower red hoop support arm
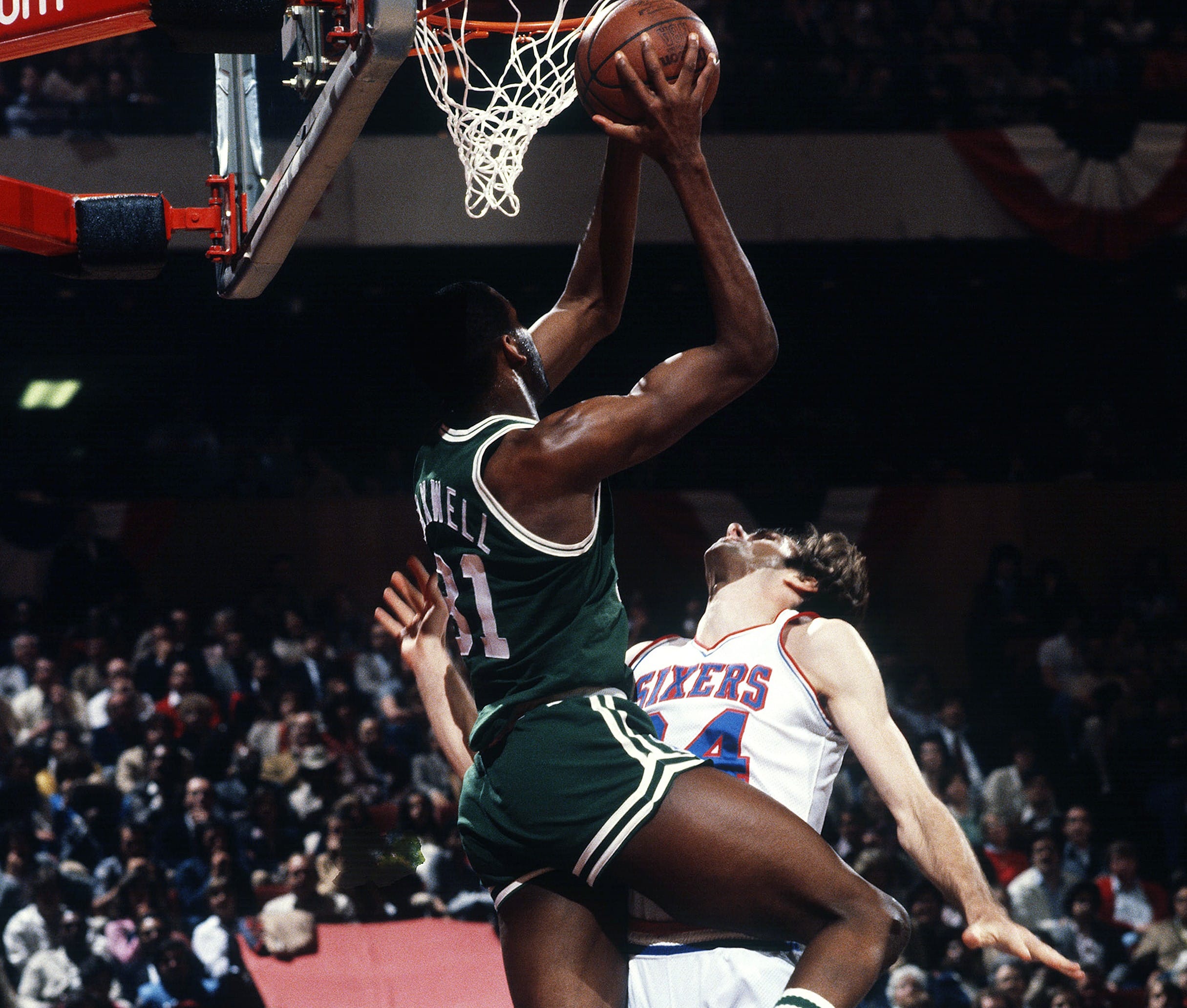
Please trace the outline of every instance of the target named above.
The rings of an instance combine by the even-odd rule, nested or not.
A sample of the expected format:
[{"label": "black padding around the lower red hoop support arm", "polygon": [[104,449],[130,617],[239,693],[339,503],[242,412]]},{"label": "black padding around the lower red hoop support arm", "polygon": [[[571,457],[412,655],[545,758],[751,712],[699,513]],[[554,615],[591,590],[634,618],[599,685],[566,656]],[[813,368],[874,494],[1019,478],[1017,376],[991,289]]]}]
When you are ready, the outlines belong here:
[{"label": "black padding around the lower red hoop support arm", "polygon": [[75,201],[78,268],[96,280],[151,280],[165,265],[160,196],[84,196]]}]

